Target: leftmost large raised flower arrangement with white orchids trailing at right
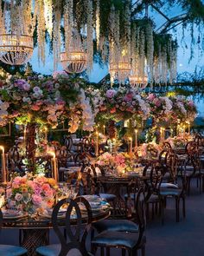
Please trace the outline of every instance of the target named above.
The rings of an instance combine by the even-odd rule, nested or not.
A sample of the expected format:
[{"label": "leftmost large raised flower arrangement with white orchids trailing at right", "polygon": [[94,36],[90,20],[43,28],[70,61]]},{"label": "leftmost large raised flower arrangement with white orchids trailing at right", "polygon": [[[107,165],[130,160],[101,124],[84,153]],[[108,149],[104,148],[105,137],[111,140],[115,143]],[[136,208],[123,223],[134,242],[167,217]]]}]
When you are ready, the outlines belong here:
[{"label": "leftmost large raised flower arrangement with white orchids trailing at right", "polygon": [[81,79],[73,81],[65,72],[55,72],[53,76],[11,76],[0,89],[0,125],[15,120],[18,124],[35,122],[54,128],[70,119],[70,132],[75,132],[80,123],[85,130],[91,130],[94,117],[81,88],[84,83]]}]

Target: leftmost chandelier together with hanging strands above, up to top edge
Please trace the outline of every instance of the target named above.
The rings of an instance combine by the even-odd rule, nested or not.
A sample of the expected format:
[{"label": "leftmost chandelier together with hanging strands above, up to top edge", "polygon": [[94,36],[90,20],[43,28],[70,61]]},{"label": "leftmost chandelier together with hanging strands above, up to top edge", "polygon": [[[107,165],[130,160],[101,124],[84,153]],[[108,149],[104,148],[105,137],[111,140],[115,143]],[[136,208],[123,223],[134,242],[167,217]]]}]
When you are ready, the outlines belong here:
[{"label": "leftmost chandelier together with hanging strands above, up to top edge", "polygon": [[[0,6],[2,6],[0,0]],[[34,19],[32,3],[5,1],[0,9],[0,60],[9,65],[23,65],[33,54]]]}]

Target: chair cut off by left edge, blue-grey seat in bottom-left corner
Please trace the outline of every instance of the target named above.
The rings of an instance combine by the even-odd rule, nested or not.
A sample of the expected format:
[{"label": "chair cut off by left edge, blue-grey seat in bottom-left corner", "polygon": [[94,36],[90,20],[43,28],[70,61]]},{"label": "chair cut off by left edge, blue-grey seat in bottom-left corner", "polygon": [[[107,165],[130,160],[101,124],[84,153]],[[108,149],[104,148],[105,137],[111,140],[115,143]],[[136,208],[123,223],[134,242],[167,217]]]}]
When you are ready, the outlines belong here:
[{"label": "chair cut off by left edge, blue-grey seat in bottom-left corner", "polygon": [[[3,213],[0,209],[0,228],[3,226]],[[2,256],[26,256],[27,250],[21,246],[0,245],[0,255]]]}]

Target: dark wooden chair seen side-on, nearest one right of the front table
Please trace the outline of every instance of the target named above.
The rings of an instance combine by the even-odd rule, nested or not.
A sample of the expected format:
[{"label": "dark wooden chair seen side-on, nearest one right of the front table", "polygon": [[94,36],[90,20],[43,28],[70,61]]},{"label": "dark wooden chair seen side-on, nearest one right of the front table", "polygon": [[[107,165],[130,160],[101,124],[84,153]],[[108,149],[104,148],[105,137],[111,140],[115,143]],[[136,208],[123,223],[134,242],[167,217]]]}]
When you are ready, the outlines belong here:
[{"label": "dark wooden chair seen side-on, nearest one right of the front table", "polygon": [[[110,256],[111,248],[122,249],[122,255],[128,252],[128,255],[137,255],[137,251],[142,251],[142,256],[145,256],[146,236],[144,234],[146,227],[146,213],[145,200],[143,188],[139,189],[135,201],[135,211],[137,213],[138,232],[129,231],[113,231],[106,230],[99,233],[92,239],[92,253],[96,253],[97,248],[101,249],[101,256],[104,255],[104,248],[106,255]],[[132,223],[134,226],[134,223]]]}]

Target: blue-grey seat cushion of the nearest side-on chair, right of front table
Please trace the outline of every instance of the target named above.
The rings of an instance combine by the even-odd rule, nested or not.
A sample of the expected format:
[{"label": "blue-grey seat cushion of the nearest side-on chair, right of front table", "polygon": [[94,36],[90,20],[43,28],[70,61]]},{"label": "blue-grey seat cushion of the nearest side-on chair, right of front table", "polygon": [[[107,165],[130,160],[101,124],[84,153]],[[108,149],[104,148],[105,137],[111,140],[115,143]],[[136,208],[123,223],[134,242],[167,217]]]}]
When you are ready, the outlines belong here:
[{"label": "blue-grey seat cushion of the nearest side-on chair, right of front table", "polygon": [[[95,236],[92,240],[92,244],[96,244],[98,246],[125,246],[133,248],[137,245],[138,237],[138,233],[105,231]],[[145,241],[146,238],[143,236],[141,243],[145,243]]]}]

